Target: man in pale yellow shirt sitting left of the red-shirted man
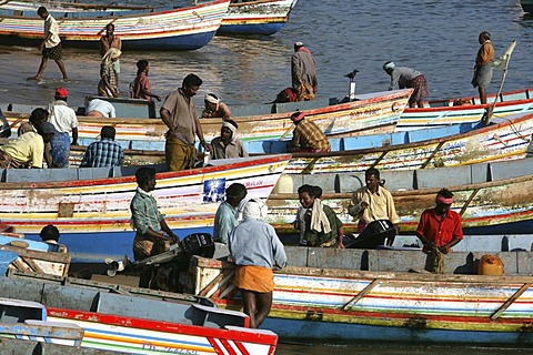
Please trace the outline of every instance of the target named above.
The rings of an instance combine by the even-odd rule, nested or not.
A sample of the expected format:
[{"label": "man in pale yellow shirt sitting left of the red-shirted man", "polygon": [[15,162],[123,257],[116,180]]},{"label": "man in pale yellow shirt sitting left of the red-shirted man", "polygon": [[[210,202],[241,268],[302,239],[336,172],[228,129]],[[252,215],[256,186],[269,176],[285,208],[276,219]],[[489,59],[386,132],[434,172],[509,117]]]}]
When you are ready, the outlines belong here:
[{"label": "man in pale yellow shirt sitting left of the red-shirted man", "polygon": [[[392,245],[399,233],[396,214],[392,194],[383,187],[380,172],[370,168],[364,173],[366,185],[358,189],[348,209],[350,215],[359,219],[355,240],[346,241],[344,247],[376,248],[378,245]],[[349,244],[348,244],[349,243]]]}]

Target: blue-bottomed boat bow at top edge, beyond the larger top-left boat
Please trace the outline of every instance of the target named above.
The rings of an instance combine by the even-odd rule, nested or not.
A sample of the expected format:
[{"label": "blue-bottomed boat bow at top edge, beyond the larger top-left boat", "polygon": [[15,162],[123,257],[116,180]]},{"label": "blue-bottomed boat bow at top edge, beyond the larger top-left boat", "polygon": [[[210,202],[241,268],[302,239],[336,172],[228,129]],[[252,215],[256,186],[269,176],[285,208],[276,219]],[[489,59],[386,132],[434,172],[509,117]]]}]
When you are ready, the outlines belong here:
[{"label": "blue-bottomed boat bow at top edge, beyond the larger top-left boat", "polygon": [[257,0],[231,3],[217,33],[274,34],[280,31],[298,0]]}]

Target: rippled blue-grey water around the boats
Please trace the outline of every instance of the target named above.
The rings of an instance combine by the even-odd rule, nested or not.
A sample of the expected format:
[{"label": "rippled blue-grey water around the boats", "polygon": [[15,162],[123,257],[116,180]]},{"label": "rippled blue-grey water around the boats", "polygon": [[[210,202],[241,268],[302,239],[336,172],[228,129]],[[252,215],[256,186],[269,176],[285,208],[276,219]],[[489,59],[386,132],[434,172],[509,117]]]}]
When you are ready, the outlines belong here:
[{"label": "rippled blue-grey water around the boats", "polygon": [[[141,0],[123,1],[134,3]],[[107,2],[93,0],[92,2]],[[121,59],[121,90],[135,75],[135,62],[151,62],[152,91],[165,95],[190,72],[204,84],[200,98],[214,92],[230,104],[272,101],[290,85],[292,43],[303,41],[316,60],[319,93],[344,95],[344,74],[358,69],[358,92],[386,90],[389,77],[381,65],[393,60],[399,65],[425,73],[431,97],[474,95],[470,84],[479,48],[477,34],[492,33],[496,57],[512,40],[512,55],[505,90],[531,84],[533,17],[524,14],[519,0],[300,0],[285,28],[272,37],[217,37],[209,45],[192,52],[125,52]],[[34,75],[40,53],[36,48],[2,47],[0,43],[0,102],[46,104],[59,82],[38,85],[26,78]],[[81,104],[95,94],[100,58],[97,51],[67,49],[64,61],[71,81],[66,84],[71,104]],[[491,92],[497,90],[496,72]],[[61,78],[49,63],[44,78]],[[531,349],[480,347],[333,346],[281,344],[276,354],[398,354],[398,355],[515,355]]]}]

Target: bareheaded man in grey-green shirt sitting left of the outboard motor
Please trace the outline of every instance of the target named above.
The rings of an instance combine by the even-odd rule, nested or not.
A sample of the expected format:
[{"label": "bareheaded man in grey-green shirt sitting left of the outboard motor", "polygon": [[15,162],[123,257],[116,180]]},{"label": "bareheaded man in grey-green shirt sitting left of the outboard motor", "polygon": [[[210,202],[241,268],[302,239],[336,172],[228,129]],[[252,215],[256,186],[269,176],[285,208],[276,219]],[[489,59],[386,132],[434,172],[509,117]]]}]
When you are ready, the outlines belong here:
[{"label": "bareheaded man in grey-green shirt sitting left of the outboard motor", "polygon": [[[133,256],[141,261],[169,250],[171,243],[178,242],[163,215],[159,212],[158,202],[151,194],[155,189],[155,170],[140,168],[135,173],[137,191],[131,200],[131,225],[137,231],[133,240]],[[152,270],[141,271],[139,287],[150,286]]]}]

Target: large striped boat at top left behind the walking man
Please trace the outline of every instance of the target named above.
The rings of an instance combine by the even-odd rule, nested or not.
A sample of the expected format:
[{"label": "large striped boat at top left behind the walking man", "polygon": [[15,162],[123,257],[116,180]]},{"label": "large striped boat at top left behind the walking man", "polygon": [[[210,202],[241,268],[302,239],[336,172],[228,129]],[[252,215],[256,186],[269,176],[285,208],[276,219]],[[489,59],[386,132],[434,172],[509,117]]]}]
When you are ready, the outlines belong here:
[{"label": "large striped boat at top left behind the walking man", "polygon": [[[42,42],[42,19],[33,10],[12,10],[8,4],[0,7],[2,43]],[[214,0],[187,8],[72,12],[52,8],[49,12],[60,23],[64,47],[98,48],[105,26],[113,22],[124,50],[193,50],[211,41],[229,4],[229,0]]]}]

